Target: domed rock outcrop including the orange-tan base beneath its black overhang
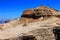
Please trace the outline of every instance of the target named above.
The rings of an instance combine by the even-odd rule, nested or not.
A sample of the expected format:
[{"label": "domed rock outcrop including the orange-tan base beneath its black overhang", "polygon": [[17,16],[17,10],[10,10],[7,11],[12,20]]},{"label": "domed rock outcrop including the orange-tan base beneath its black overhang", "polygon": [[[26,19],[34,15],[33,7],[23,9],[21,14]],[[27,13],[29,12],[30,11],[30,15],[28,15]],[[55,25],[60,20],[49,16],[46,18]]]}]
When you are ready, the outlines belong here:
[{"label": "domed rock outcrop including the orange-tan base beneath its black overhang", "polygon": [[60,12],[50,7],[40,6],[35,9],[25,10],[21,18],[26,18],[28,23],[37,21],[42,18],[42,20],[48,19],[51,16],[60,17]]}]

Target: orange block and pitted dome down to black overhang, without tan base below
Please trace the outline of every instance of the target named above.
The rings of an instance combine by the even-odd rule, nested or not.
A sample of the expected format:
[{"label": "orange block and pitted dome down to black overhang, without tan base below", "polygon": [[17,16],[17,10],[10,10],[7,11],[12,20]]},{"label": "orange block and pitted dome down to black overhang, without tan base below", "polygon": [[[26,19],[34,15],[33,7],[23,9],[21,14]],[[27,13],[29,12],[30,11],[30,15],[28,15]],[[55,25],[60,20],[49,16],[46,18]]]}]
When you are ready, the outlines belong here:
[{"label": "orange block and pitted dome down to black overhang, without tan base below", "polygon": [[26,17],[26,18],[33,18],[33,19],[38,19],[41,16],[42,17],[46,17],[46,16],[57,16],[60,13],[57,13],[58,10],[55,10],[53,8],[49,8],[46,6],[41,6],[41,7],[37,7],[33,10],[26,10],[23,12],[22,17]]}]

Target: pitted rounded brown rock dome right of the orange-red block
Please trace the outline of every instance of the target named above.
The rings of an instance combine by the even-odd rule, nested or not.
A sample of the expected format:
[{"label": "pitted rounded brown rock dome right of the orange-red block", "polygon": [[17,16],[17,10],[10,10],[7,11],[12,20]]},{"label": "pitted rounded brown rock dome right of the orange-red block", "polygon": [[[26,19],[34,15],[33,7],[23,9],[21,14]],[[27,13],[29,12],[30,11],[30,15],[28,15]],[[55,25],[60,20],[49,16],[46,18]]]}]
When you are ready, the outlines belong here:
[{"label": "pitted rounded brown rock dome right of the orange-red block", "polygon": [[56,15],[58,15],[58,13],[56,13],[56,12],[58,12],[58,11],[55,9],[46,7],[46,6],[38,7],[36,9],[34,9],[34,11],[33,11],[33,13],[36,16],[56,16]]}]

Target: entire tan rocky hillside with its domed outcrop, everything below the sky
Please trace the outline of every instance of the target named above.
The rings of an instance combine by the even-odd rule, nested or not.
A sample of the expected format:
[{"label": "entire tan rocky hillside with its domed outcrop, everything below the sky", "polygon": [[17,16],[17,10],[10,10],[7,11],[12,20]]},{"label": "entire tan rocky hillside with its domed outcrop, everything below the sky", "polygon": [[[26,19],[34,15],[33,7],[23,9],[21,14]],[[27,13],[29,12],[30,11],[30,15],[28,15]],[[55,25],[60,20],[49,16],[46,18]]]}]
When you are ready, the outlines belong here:
[{"label": "entire tan rocky hillside with its domed outcrop, everything below the sky", "polygon": [[60,40],[60,11],[40,6],[0,24],[0,40]]}]

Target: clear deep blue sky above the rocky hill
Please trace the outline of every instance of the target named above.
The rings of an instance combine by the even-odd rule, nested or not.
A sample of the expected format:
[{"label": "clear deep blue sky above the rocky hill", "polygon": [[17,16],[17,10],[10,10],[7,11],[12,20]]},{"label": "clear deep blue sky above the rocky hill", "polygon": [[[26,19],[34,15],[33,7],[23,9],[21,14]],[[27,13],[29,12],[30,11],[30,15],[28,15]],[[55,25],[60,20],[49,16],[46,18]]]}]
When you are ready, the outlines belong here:
[{"label": "clear deep blue sky above the rocky hill", "polygon": [[60,10],[59,0],[0,0],[0,18],[18,18],[25,9],[35,8],[40,5]]}]

